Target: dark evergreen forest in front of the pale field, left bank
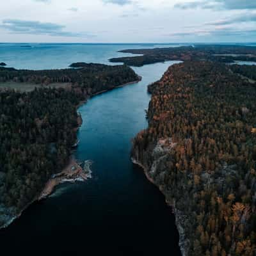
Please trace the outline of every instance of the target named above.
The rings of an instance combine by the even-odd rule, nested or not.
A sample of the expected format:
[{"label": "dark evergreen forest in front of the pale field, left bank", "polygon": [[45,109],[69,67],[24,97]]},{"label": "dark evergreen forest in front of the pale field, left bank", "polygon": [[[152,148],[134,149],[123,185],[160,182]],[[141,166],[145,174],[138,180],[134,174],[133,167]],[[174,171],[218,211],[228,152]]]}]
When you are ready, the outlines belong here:
[{"label": "dark evergreen forest in front of the pale field, left bank", "polygon": [[63,168],[81,99],[63,89],[0,93],[1,203],[22,209]]}]

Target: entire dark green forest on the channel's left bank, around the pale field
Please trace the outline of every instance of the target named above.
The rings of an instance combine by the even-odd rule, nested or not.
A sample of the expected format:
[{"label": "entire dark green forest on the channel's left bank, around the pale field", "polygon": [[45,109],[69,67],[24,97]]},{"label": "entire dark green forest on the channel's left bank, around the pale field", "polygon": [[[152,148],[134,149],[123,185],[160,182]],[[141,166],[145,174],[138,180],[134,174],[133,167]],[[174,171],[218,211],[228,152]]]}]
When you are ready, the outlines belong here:
[{"label": "entire dark green forest on the channel's left bank, around the pale field", "polygon": [[0,227],[36,198],[67,164],[76,141],[77,105],[102,90],[138,80],[126,66],[79,70],[1,68],[1,81],[70,81],[70,88],[0,90]]}]

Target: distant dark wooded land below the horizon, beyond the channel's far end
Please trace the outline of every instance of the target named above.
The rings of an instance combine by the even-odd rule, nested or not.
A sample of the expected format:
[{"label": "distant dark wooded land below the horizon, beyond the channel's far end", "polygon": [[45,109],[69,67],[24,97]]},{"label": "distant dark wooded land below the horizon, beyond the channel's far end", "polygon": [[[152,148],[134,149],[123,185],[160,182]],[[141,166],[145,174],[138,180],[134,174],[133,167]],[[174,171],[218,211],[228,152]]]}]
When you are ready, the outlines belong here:
[{"label": "distant dark wooded land below the horizon, beyond the channel's far end", "polygon": [[143,54],[142,56],[110,59],[111,62],[124,62],[126,65],[135,67],[170,60],[209,60],[223,63],[234,63],[236,60],[256,61],[256,47],[243,45],[194,45],[155,49],[128,49],[120,52]]}]

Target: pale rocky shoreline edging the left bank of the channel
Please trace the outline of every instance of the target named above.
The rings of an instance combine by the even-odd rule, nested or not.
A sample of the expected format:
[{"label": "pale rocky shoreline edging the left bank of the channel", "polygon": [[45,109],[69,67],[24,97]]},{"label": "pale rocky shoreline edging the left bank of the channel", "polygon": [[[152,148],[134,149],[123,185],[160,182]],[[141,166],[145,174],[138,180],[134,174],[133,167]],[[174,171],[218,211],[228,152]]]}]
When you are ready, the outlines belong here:
[{"label": "pale rocky shoreline edging the left bank of the channel", "polygon": [[[103,90],[103,91],[101,91],[101,92],[99,92],[99,93],[93,93],[93,94],[90,95],[89,97],[86,97],[86,99],[81,100],[81,101],[79,102],[79,104],[76,105],[76,109],[78,110],[79,107],[83,106],[83,104],[86,104],[86,102],[88,101],[88,99],[90,99],[91,97],[94,97],[94,96],[96,96],[96,95],[102,94],[102,93],[104,93],[104,92],[108,92],[108,91],[114,90],[115,88],[121,88],[121,87],[127,86],[127,85],[129,85],[129,84],[136,84],[136,83],[139,83],[139,82],[141,81],[141,79],[142,79],[142,77],[141,77],[141,76],[138,76],[138,80],[136,80],[136,81],[132,81],[132,82],[129,82],[129,83],[121,84],[120,86],[114,86],[113,88],[109,88],[108,90]],[[77,113],[77,127],[74,128],[75,131],[78,131],[82,124],[83,124],[83,118],[82,118],[81,115],[79,115],[79,114]],[[76,159],[73,158],[73,160],[72,160],[72,156],[70,156],[69,159],[68,159],[68,161],[67,161],[67,164],[65,164],[65,167],[62,168],[62,169],[60,170],[60,172],[56,173],[55,175],[60,175],[61,173],[63,173],[63,172],[65,171],[65,169],[67,169],[68,166],[70,166],[70,161],[71,161],[71,163],[75,163],[75,162],[76,162]],[[74,162],[72,162],[72,161],[74,161]],[[78,165],[77,162],[76,162],[76,164]],[[76,165],[76,164],[75,164],[75,165]],[[89,173],[89,175],[90,175],[90,174],[91,174],[91,172]],[[81,178],[81,177],[77,177],[76,179],[71,179],[71,180],[68,180],[68,179],[67,179],[67,180],[64,180],[63,182],[76,182],[76,181],[85,181],[85,180],[86,180],[86,179],[82,180],[83,177],[82,177],[82,179],[79,179],[79,178]],[[35,196],[35,198],[34,198],[31,202],[29,202],[26,206],[24,206],[24,207],[22,208],[22,210],[19,211],[19,213],[10,215],[9,220],[6,221],[6,223],[4,223],[2,226],[0,226],[0,230],[1,230],[1,229],[4,229],[4,228],[8,228],[8,226],[10,226],[10,225],[13,223],[13,221],[15,221],[15,220],[17,220],[17,219],[20,218],[21,214],[22,214],[24,211],[26,211],[26,209],[28,209],[28,207],[29,207],[30,205],[34,204],[36,201],[39,202],[40,200],[46,199],[49,195],[51,195],[52,191],[54,191],[54,188],[55,188],[56,186],[58,186],[59,184],[63,183],[63,182],[59,182],[58,184],[55,184],[55,185],[52,187],[53,184],[50,184],[51,180],[52,180],[52,178],[50,178],[50,179],[45,183],[44,189],[42,189],[42,191],[40,191],[40,193],[38,193],[38,195]],[[44,195],[44,192],[46,192],[47,188],[52,188],[51,193],[49,193],[49,194],[47,194],[47,195],[45,195],[45,196],[42,196],[42,195]],[[45,189],[46,189],[46,190],[45,190]]]}]

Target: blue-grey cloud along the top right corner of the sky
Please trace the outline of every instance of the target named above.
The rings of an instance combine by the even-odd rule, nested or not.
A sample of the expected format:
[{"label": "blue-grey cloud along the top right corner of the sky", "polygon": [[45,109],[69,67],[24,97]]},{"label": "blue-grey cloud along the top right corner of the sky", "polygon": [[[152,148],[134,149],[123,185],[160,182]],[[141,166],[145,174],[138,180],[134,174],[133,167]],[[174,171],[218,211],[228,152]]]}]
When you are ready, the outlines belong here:
[{"label": "blue-grey cloud along the top right corner of the sky", "polygon": [[175,8],[186,9],[226,9],[226,10],[256,10],[255,0],[196,0],[175,4]]}]

